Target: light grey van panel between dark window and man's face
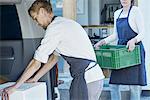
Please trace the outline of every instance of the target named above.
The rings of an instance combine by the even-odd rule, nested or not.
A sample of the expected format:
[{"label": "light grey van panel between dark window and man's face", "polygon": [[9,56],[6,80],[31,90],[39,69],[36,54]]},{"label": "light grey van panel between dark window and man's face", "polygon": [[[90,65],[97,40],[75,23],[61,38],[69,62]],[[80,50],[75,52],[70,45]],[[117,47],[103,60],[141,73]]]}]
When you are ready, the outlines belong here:
[{"label": "light grey van panel between dark window and man's face", "polygon": [[23,39],[42,38],[44,36],[44,30],[28,14],[28,8],[34,1],[22,0],[21,4],[16,4]]}]

